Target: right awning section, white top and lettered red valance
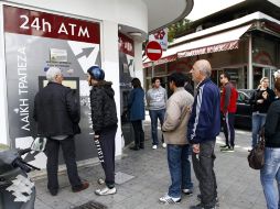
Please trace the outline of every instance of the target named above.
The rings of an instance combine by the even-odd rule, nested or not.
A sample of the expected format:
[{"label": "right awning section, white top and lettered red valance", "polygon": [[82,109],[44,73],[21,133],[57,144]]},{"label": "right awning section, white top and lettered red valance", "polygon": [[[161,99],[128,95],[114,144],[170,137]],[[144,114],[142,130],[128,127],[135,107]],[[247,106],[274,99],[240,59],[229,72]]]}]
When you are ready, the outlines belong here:
[{"label": "right awning section, white top and lettered red valance", "polygon": [[238,48],[240,36],[246,33],[250,26],[251,24],[185,43],[183,44],[184,50],[177,52],[177,58]]}]

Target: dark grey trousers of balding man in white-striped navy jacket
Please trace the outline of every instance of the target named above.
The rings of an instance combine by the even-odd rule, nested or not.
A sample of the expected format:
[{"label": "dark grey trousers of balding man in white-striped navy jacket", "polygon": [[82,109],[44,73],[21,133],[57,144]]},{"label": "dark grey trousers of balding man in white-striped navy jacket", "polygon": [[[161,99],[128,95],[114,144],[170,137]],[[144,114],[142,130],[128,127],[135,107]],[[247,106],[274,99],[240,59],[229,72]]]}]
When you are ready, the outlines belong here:
[{"label": "dark grey trousers of balding man in white-striped navy jacket", "polygon": [[217,183],[214,173],[214,154],[216,141],[206,141],[200,144],[200,154],[192,153],[193,168],[202,195],[202,205],[213,207],[216,204]]}]

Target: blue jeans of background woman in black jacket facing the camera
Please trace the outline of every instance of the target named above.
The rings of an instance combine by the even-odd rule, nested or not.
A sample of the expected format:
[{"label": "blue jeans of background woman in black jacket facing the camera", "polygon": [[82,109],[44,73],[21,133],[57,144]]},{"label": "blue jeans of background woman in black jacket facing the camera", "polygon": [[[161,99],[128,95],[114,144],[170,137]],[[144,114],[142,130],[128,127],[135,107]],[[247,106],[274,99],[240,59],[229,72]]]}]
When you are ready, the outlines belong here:
[{"label": "blue jeans of background woman in black jacket facing the camera", "polygon": [[266,123],[266,113],[252,112],[251,116],[251,147],[255,147],[260,139],[259,132],[260,129]]}]

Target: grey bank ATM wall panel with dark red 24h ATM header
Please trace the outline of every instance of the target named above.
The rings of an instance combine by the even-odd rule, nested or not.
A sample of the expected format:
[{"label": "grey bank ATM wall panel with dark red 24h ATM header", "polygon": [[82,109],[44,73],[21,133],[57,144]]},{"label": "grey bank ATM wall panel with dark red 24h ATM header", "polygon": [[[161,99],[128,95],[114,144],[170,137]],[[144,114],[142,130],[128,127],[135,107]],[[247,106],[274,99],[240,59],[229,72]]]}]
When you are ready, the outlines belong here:
[{"label": "grey bank ATM wall panel with dark red 24h ATM header", "polygon": [[36,135],[34,96],[47,84],[47,68],[56,66],[63,72],[63,85],[79,94],[82,134],[76,141],[82,154],[78,156],[90,157],[94,147],[89,140],[86,72],[91,65],[100,65],[99,23],[9,6],[3,7],[3,14],[12,145],[26,146]]}]

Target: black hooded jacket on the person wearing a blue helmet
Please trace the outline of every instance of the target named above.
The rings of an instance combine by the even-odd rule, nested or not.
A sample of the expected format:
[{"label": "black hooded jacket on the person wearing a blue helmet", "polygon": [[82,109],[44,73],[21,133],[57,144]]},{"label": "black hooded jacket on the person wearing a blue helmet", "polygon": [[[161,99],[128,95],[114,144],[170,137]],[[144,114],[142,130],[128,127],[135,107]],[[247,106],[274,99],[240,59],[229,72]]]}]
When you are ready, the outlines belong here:
[{"label": "black hooded jacket on the person wearing a blue helmet", "polygon": [[111,85],[111,82],[101,80],[90,90],[91,121],[96,134],[118,123],[115,92]]}]

